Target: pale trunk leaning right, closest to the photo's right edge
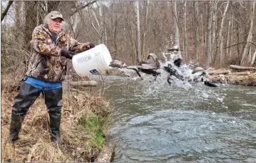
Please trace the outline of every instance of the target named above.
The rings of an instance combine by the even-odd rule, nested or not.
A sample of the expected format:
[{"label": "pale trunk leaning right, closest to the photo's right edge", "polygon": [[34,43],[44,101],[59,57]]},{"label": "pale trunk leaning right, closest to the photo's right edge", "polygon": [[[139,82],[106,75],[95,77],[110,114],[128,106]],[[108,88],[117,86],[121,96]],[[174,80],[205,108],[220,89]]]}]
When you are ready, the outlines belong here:
[{"label": "pale trunk leaning right, closest to the photo's right edge", "polygon": [[245,58],[246,58],[246,55],[248,54],[248,49],[249,49],[249,44],[250,42],[252,42],[252,29],[253,29],[253,19],[254,19],[254,13],[255,13],[255,4],[256,2],[255,1],[252,1],[251,2],[251,5],[252,5],[252,15],[251,15],[251,18],[250,18],[250,30],[249,30],[249,33],[248,33],[248,37],[247,37],[247,41],[246,41],[246,44],[245,44],[245,47],[243,49],[243,56],[242,56],[242,59],[240,61],[240,66],[243,66],[245,64]]}]

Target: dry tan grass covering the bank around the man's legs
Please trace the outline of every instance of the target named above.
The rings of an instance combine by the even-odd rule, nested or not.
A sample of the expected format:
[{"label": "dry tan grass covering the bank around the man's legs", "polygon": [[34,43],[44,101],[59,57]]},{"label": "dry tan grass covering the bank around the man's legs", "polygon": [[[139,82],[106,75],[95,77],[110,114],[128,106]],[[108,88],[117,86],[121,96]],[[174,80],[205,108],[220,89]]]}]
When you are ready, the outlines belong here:
[{"label": "dry tan grass covering the bank around the man's legs", "polygon": [[[45,102],[39,97],[28,111],[20,133],[20,139],[8,143],[8,128],[13,97],[17,92],[2,90],[1,96],[1,162],[88,162],[96,157],[100,147],[93,142],[93,132],[78,123],[89,114],[110,118],[110,107],[101,95],[64,95],[62,107],[62,144],[52,143],[49,118]],[[68,104],[69,102],[69,104]],[[103,134],[107,132],[104,125]]]}]

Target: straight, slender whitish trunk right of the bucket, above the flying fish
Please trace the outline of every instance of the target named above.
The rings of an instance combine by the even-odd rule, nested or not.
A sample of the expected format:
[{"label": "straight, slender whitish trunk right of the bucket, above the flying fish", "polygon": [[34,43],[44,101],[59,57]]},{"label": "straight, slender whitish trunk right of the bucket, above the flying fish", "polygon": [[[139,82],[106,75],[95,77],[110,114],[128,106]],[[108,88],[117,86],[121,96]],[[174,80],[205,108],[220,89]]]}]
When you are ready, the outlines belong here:
[{"label": "straight, slender whitish trunk right of the bucket, above the flying fish", "polygon": [[135,11],[136,11],[136,56],[137,61],[141,61],[141,31],[139,26],[139,1],[135,1]]}]

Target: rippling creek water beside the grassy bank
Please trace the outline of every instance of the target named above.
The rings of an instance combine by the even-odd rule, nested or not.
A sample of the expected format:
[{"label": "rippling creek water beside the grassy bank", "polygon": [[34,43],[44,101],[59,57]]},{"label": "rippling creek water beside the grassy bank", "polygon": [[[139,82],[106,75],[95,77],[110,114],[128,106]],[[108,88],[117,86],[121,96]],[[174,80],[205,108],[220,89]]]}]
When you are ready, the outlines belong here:
[{"label": "rippling creek water beside the grassy bank", "polygon": [[114,162],[256,162],[256,87],[105,77]]}]

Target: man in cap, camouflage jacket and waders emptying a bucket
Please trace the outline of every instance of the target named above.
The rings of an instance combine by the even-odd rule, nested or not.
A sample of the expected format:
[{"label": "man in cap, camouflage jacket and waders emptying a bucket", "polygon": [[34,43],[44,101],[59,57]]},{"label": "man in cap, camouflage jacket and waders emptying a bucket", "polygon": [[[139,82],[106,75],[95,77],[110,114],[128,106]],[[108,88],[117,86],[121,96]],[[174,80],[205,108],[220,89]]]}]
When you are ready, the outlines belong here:
[{"label": "man in cap, camouflage jacket and waders emptying a bucket", "polygon": [[30,41],[32,57],[12,107],[9,133],[11,143],[18,140],[25,114],[40,92],[44,94],[50,116],[52,140],[60,143],[62,81],[66,75],[66,59],[72,59],[75,52],[95,47],[92,43],[79,43],[64,33],[63,20],[61,13],[52,11],[45,16],[44,24],[33,30]]}]

